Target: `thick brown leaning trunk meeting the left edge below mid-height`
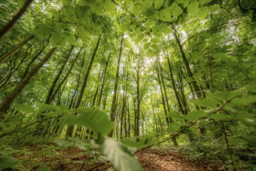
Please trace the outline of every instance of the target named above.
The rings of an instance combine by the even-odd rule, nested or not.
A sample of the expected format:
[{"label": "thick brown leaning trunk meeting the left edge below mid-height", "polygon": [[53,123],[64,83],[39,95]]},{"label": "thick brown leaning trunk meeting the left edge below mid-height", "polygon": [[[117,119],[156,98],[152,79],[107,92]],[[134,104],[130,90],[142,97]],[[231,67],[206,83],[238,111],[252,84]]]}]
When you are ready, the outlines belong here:
[{"label": "thick brown leaning trunk meeting the left edge below mid-height", "polygon": [[26,85],[30,82],[30,79],[33,77],[33,75],[36,75],[37,72],[40,70],[40,68],[43,67],[43,65],[48,61],[48,59],[51,58],[51,55],[54,54],[54,51],[56,48],[51,48],[50,51],[45,55],[41,61],[30,70],[30,72],[27,73],[27,75],[19,82],[18,86],[16,86],[15,89],[10,92],[5,99],[0,103],[0,113],[5,113],[5,111],[9,108],[10,104],[14,99],[16,99],[16,96],[20,94],[20,92],[23,91],[23,89],[26,87]]}]

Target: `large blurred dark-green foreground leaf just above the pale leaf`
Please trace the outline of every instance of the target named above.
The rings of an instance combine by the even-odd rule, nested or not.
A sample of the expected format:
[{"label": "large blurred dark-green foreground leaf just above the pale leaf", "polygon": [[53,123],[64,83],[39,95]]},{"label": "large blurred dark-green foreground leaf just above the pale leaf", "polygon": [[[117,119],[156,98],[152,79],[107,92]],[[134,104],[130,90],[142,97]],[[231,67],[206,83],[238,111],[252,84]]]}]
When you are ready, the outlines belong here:
[{"label": "large blurred dark-green foreground leaf just above the pale leaf", "polygon": [[100,110],[88,110],[78,117],[66,117],[65,124],[86,126],[101,137],[114,127],[114,124],[108,120],[107,114]]}]

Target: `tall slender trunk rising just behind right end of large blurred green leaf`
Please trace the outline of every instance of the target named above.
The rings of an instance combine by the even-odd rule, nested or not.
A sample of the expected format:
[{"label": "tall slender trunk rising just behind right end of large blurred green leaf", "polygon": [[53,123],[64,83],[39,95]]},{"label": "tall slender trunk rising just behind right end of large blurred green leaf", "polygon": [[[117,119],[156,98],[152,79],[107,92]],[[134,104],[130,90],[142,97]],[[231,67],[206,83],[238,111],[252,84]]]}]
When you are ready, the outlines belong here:
[{"label": "tall slender trunk rising just behind right end of large blurred green leaf", "polygon": [[[121,36],[121,44],[120,44],[120,51],[119,51],[119,56],[118,56],[118,61],[117,61],[117,72],[116,72],[116,77],[114,81],[114,96],[112,99],[112,106],[111,106],[111,112],[110,112],[110,120],[114,122],[115,118],[115,110],[116,110],[116,102],[117,102],[117,86],[119,82],[119,68],[120,68],[120,61],[121,61],[121,52],[122,52],[122,46],[123,46],[123,39],[124,39],[124,33]],[[113,137],[113,130],[110,131],[109,134],[110,137]]]}]

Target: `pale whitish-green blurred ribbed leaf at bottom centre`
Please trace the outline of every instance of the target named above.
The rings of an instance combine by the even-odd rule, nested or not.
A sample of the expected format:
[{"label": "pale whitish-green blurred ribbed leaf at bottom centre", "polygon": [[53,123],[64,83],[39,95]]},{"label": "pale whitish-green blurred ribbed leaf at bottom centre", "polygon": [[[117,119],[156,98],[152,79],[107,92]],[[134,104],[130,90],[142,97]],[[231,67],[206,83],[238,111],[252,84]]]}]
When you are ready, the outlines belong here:
[{"label": "pale whitish-green blurred ribbed leaf at bottom centre", "polygon": [[139,162],[122,150],[121,142],[105,138],[102,145],[103,155],[107,156],[118,170],[143,170]]}]

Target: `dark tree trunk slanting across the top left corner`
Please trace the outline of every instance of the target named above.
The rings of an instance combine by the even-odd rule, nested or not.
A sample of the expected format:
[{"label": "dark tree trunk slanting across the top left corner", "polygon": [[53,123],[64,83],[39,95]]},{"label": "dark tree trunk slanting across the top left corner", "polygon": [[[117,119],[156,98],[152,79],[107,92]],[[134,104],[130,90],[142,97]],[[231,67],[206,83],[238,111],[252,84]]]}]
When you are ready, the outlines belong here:
[{"label": "dark tree trunk slanting across the top left corner", "polygon": [[12,19],[9,21],[9,23],[7,23],[2,28],[2,30],[0,30],[0,40],[2,40],[2,37],[5,35],[5,33],[7,33],[12,28],[12,26],[18,21],[18,19],[21,16],[23,16],[23,13],[26,12],[26,9],[30,6],[31,2],[33,2],[33,0],[26,0],[23,7],[21,9],[19,9],[19,12],[16,13],[16,15],[12,17]]}]

